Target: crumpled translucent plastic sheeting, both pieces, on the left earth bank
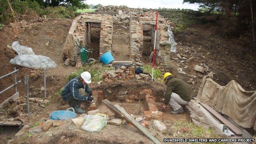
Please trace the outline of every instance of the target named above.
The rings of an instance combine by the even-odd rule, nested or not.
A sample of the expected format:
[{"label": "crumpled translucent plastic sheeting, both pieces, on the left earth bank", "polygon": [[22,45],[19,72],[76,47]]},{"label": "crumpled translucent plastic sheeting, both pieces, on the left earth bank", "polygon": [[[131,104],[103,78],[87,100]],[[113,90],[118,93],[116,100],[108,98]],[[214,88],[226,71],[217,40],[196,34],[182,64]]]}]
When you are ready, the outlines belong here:
[{"label": "crumpled translucent plastic sheeting, both pieces, on the left earth bank", "polygon": [[10,60],[11,64],[34,69],[54,69],[57,67],[52,59],[43,55],[35,55],[32,48],[21,46],[18,41],[14,41],[11,48],[18,53],[16,57]]}]

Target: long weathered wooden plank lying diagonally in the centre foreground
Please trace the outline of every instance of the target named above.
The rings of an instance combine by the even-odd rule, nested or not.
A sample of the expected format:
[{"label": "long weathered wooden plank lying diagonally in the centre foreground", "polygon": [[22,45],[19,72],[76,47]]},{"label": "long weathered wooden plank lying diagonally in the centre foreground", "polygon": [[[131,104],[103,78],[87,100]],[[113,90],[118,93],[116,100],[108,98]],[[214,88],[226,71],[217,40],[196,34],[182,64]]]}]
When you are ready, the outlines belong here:
[{"label": "long weathered wooden plank lying diagonally in the centre foreground", "polygon": [[133,119],[133,117],[130,116],[122,107],[119,105],[113,105],[110,101],[107,99],[103,100],[102,103],[104,103],[107,107],[109,107],[111,110],[119,114],[123,119],[126,119],[126,121],[130,122],[138,128],[144,135],[146,135],[154,144],[161,144],[158,139],[156,139],[151,133],[149,133],[144,126],[142,126],[138,121]]}]

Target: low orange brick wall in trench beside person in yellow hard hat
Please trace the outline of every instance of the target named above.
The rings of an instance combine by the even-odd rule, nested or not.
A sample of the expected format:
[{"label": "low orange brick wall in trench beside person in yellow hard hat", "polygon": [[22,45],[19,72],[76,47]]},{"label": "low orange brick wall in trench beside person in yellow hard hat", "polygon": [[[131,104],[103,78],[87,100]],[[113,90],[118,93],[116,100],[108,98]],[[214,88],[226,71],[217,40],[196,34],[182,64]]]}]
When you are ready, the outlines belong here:
[{"label": "low orange brick wall in trench beside person in yellow hard hat", "polygon": [[139,93],[139,97],[144,97],[144,105],[147,111],[144,111],[144,117],[147,121],[151,119],[161,119],[162,112],[158,111],[155,105],[155,98],[152,95],[152,91],[149,89],[144,89]]}]

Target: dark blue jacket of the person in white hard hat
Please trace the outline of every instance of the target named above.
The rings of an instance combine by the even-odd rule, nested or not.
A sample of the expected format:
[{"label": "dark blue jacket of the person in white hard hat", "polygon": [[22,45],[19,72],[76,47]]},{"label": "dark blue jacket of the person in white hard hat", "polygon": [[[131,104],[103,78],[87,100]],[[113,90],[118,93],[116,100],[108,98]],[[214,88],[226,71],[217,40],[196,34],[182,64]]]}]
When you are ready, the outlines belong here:
[{"label": "dark blue jacket of the person in white hard hat", "polygon": [[61,96],[65,101],[69,101],[72,97],[79,101],[87,101],[87,96],[79,95],[78,89],[83,88],[85,92],[91,91],[88,85],[83,85],[78,81],[78,77],[70,80],[61,92]]}]

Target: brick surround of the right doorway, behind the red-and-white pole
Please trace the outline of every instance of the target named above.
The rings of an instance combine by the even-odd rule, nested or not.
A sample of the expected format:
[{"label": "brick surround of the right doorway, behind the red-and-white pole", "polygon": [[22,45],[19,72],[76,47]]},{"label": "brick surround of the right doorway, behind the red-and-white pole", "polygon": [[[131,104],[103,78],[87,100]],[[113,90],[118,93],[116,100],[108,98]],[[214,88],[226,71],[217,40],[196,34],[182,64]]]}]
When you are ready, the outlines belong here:
[{"label": "brick surround of the right doorway, behind the red-and-white pole", "polygon": [[[143,25],[155,25],[155,17],[131,17],[130,18],[130,60],[139,62],[143,48]],[[168,25],[164,18],[158,19],[158,33],[156,43],[156,64],[169,67],[171,44],[167,32]],[[154,38],[154,36],[153,36]]]}]

